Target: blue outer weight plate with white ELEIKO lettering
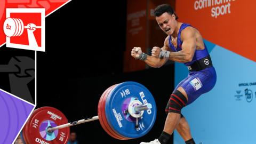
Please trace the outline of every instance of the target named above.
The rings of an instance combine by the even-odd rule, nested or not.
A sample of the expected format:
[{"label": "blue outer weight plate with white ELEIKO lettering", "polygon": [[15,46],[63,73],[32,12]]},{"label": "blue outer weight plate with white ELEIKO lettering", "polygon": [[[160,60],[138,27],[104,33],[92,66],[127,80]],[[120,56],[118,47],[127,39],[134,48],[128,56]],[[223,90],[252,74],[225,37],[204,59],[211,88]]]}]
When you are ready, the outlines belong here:
[{"label": "blue outer weight plate with white ELEIKO lettering", "polygon": [[[139,127],[135,128],[135,118],[124,113],[129,101],[138,98],[142,103],[151,103],[152,108],[145,110],[139,119]],[[111,128],[122,137],[139,138],[147,134],[156,120],[156,103],[149,90],[137,82],[124,82],[112,90],[106,99],[106,118]],[[129,118],[130,117],[130,118]]]}]

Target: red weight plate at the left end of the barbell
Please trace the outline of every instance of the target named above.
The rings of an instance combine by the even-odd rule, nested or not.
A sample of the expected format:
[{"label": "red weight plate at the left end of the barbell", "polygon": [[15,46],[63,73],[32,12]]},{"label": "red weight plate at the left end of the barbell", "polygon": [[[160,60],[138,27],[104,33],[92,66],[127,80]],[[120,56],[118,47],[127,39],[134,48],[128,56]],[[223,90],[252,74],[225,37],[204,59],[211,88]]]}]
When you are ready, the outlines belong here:
[{"label": "red weight plate at the left end of the barbell", "polygon": [[53,107],[41,107],[36,109],[29,118],[23,137],[27,143],[67,143],[69,139],[69,127],[46,132],[47,127],[54,127],[68,123],[61,111]]}]

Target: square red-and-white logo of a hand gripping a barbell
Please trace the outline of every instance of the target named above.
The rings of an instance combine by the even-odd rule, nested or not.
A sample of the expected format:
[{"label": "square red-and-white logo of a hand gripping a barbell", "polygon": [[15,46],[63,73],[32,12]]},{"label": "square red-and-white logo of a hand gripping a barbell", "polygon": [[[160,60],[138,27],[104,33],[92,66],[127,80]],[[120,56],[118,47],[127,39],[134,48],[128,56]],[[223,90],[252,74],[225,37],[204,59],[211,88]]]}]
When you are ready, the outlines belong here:
[{"label": "square red-and-white logo of a hand gripping a barbell", "polygon": [[6,47],[45,51],[45,9],[6,9]]}]

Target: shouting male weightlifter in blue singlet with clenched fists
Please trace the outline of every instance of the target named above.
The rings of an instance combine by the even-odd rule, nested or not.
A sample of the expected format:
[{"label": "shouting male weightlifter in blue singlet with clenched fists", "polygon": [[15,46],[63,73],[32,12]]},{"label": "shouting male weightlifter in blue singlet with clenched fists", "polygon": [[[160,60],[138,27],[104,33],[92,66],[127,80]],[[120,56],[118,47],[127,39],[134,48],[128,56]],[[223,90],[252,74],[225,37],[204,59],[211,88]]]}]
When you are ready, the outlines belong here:
[{"label": "shouting male weightlifter in blue singlet with clenched fists", "polygon": [[175,129],[186,144],[194,144],[188,122],[181,115],[181,109],[213,89],[217,79],[216,72],[203,37],[196,28],[177,21],[177,14],[168,4],[157,6],[154,15],[159,27],[167,35],[164,46],[153,47],[151,56],[143,53],[141,47],[134,47],[131,51],[132,57],[143,60],[154,68],[162,67],[167,60],[181,62],[188,67],[189,74],[175,87],[170,96],[165,109],[167,117],[162,134],[158,139],[141,144],[166,144]]}]

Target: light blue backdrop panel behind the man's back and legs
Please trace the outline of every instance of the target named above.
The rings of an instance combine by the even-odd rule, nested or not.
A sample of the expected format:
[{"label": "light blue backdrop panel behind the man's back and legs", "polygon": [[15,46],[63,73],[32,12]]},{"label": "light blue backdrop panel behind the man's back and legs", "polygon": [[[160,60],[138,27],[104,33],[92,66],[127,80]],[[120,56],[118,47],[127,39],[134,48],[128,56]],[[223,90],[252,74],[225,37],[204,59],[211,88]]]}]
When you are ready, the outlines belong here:
[{"label": "light blue backdrop panel behind the man's back and legs", "polygon": [[[217,71],[213,90],[182,109],[191,133],[199,144],[256,141],[256,63],[205,41]],[[187,76],[183,64],[175,63],[175,85]],[[184,143],[177,131],[174,144]]]}]

